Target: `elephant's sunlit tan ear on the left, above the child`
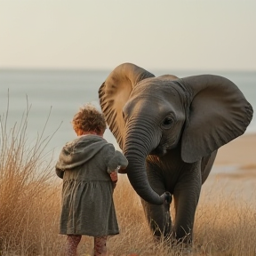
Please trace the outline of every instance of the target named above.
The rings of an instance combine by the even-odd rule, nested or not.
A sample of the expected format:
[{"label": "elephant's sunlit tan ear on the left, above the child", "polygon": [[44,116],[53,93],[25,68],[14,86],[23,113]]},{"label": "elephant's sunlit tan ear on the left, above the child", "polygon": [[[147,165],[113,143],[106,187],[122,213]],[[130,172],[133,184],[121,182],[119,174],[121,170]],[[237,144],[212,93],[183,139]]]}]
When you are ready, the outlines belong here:
[{"label": "elephant's sunlit tan ear on the left, above the child", "polygon": [[123,108],[130,97],[132,89],[141,80],[155,77],[147,70],[132,63],[124,63],[116,67],[106,81],[100,86],[100,107],[114,134],[119,147],[123,149],[124,133]]}]

